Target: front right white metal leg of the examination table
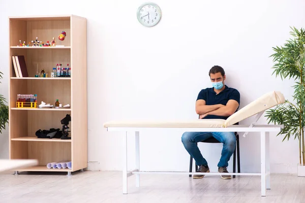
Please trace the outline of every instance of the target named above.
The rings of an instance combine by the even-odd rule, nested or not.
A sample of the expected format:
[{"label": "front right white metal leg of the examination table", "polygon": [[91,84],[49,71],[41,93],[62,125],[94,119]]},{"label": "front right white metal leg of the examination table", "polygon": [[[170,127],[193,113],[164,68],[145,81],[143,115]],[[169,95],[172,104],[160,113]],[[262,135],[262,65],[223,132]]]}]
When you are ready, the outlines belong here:
[{"label": "front right white metal leg of the examination table", "polygon": [[266,196],[266,132],[261,132],[261,189]]}]

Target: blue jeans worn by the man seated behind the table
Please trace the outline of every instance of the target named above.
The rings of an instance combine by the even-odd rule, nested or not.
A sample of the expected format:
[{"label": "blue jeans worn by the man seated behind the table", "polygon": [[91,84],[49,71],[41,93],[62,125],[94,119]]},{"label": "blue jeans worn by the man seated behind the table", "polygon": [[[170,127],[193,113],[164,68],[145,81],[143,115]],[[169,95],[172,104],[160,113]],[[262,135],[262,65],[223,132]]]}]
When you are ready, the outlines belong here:
[{"label": "blue jeans worn by the man seated behind the table", "polygon": [[218,167],[227,167],[235,149],[236,137],[234,132],[185,132],[182,134],[181,141],[189,154],[195,159],[197,165],[207,165],[196,143],[211,137],[223,143]]}]

